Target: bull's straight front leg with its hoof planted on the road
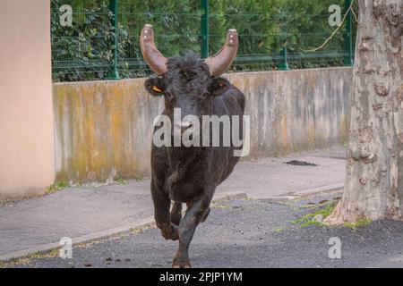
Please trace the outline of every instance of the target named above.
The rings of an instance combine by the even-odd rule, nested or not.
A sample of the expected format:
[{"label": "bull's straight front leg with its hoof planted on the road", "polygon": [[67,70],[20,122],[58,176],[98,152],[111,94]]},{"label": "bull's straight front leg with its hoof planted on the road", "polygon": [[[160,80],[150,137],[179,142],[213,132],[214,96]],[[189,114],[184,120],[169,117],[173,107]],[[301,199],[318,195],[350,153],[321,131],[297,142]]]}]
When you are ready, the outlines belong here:
[{"label": "bull's straight front leg with its hoof planted on the road", "polygon": [[172,264],[174,268],[189,268],[191,267],[189,259],[189,244],[193,239],[194,231],[203,215],[210,209],[210,195],[202,195],[199,198],[193,199],[186,209],[186,214],[179,223],[179,248],[176,252],[176,257]]}]

